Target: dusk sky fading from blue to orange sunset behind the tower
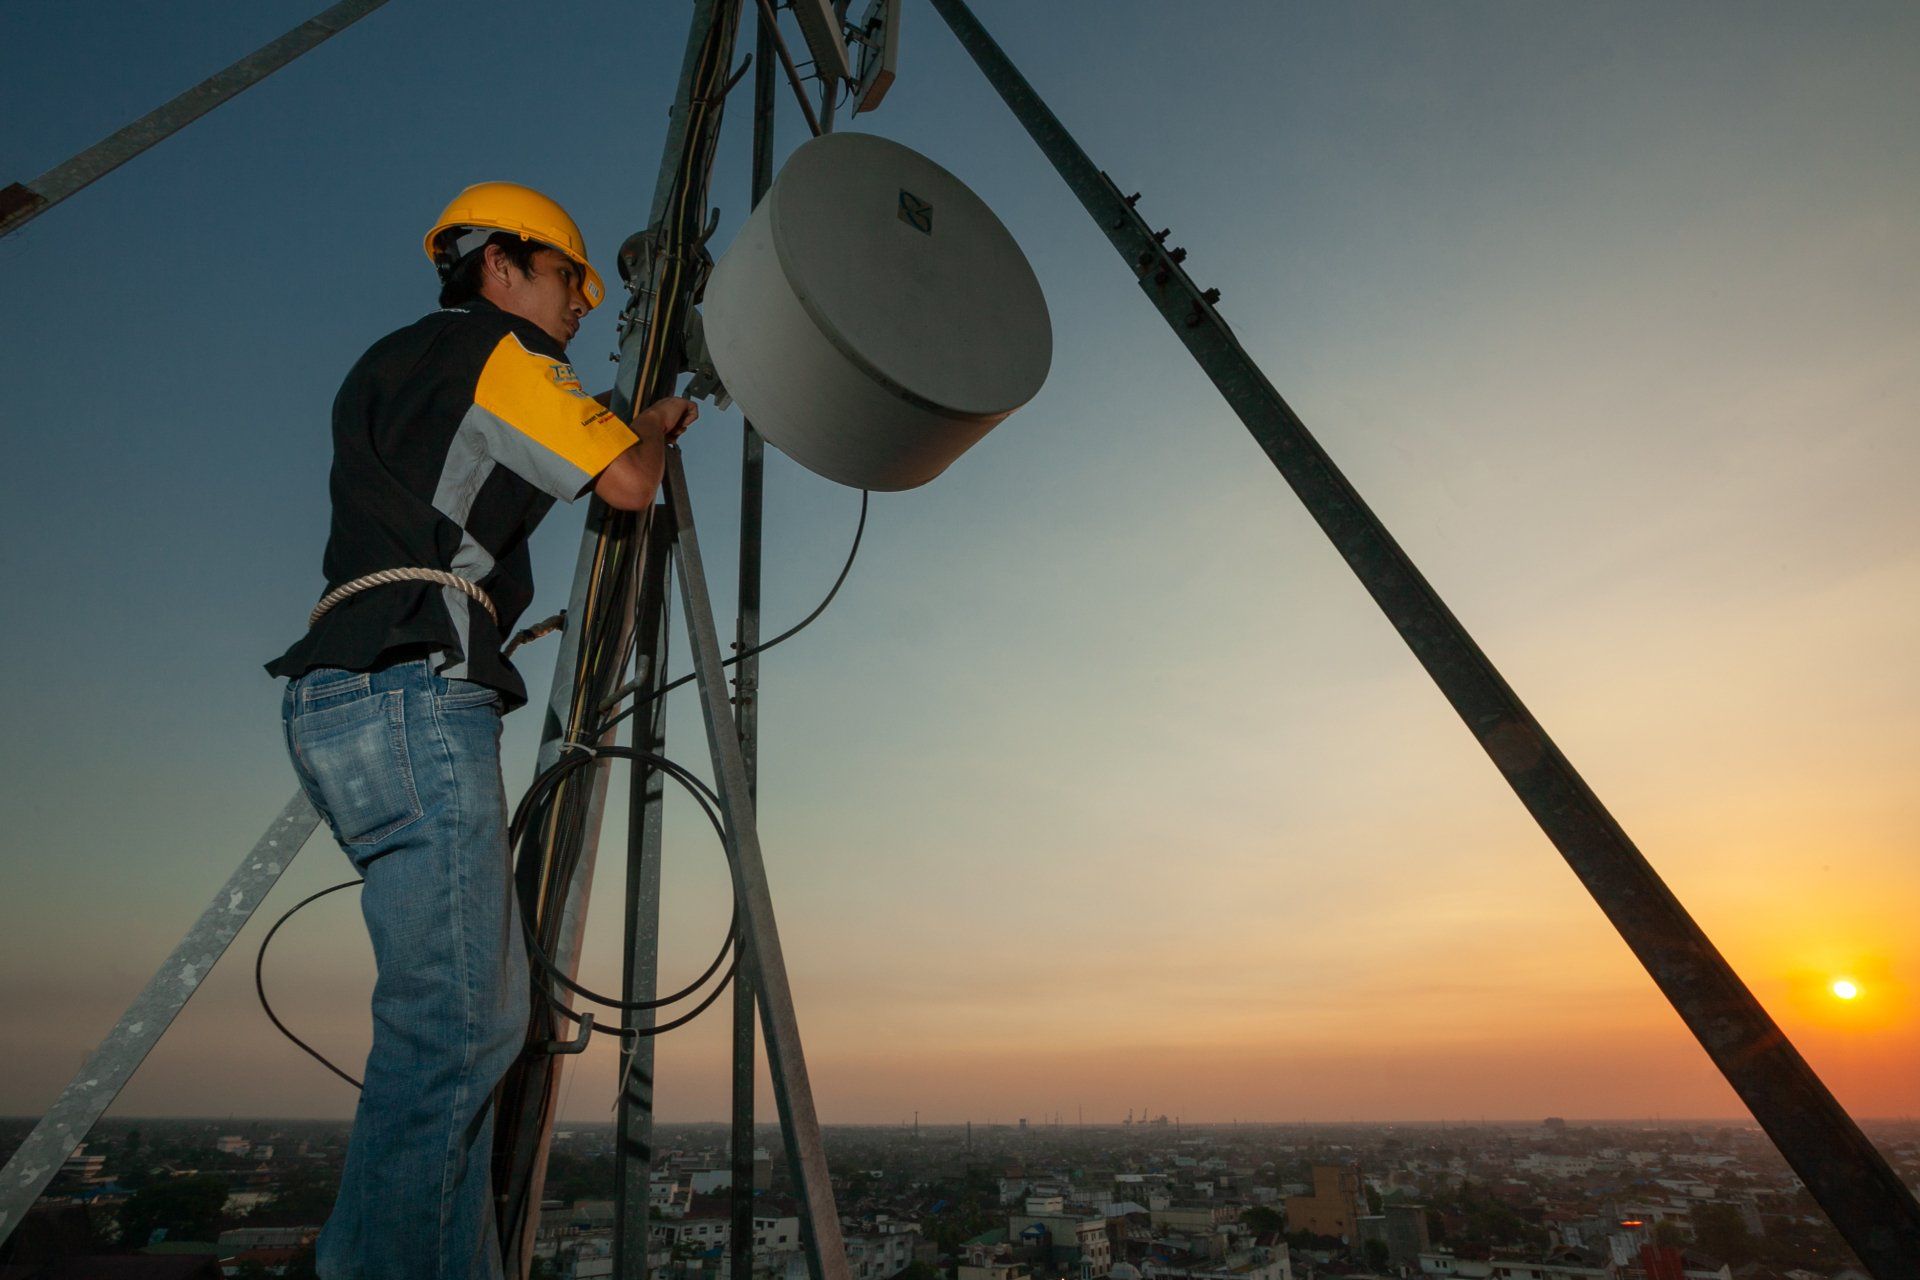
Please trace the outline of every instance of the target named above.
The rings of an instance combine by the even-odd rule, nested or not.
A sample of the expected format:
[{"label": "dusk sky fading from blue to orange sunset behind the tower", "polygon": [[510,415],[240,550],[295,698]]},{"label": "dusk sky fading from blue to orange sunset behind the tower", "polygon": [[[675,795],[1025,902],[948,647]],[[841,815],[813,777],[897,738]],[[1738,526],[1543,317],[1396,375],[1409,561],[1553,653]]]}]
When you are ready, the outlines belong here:
[{"label": "dusk sky fading from blue to orange sunset behind the tower", "polygon": [[[0,182],[313,8],[8,4]],[[1841,1103],[1920,1111],[1920,10],[975,8]],[[394,0],[0,240],[0,1113],[52,1103],[294,789],[261,664],[323,589],[332,393],[432,307],[422,232],[468,182],[528,182],[612,280],[680,12]],[[822,1119],[1743,1115],[929,6],[851,127],[1000,215],[1054,365],[945,476],[874,497],[839,601],[762,668]],[[614,311],[572,347],[593,386]],[[737,413],[685,441],[722,631],[737,455]],[[768,629],[856,510],[774,457]],[[528,616],[564,603],[580,516],[541,528]],[[507,722],[513,793],[536,733]],[[668,743],[705,770],[691,699]],[[728,902],[699,816],[668,825],[678,984]],[[616,802],[599,984],[622,846]],[[351,1113],[250,973],[348,877],[324,835],[300,854],[117,1115]],[[267,981],[351,1069],[348,898]],[[726,1034],[662,1040],[662,1119],[726,1113]],[[614,1090],[595,1046],[563,1111]]]}]

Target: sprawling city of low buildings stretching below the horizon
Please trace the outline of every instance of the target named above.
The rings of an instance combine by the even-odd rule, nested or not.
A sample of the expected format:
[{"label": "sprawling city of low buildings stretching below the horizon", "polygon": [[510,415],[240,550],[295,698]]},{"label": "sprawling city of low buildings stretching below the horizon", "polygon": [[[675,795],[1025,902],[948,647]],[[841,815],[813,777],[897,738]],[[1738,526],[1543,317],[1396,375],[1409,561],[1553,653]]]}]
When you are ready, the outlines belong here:
[{"label": "sprawling city of low buildings stretching below the horizon", "polygon": [[[0,1125],[0,1150],[23,1132]],[[1868,1132],[1901,1176],[1920,1171],[1912,1121]],[[96,1240],[113,1236],[106,1222],[123,1242],[127,1224],[165,1226],[242,1265],[273,1261],[253,1249],[311,1247],[348,1125],[121,1119],[98,1138],[61,1169],[52,1203],[84,1205]],[[1594,1280],[1638,1274],[1647,1245],[1686,1249],[1699,1280],[1864,1274],[1751,1126],[839,1125],[822,1140],[849,1265],[876,1278],[1309,1280],[1365,1265]],[[618,1251],[618,1171],[636,1171],[609,1123],[561,1125],[551,1150],[536,1253],[586,1278]],[[182,1184],[204,1192],[167,1190]],[[645,1186],[651,1272],[712,1280],[732,1242],[726,1125],[655,1126]],[[756,1134],[753,1186],[755,1270],[795,1274],[804,1209],[778,1126]]]}]

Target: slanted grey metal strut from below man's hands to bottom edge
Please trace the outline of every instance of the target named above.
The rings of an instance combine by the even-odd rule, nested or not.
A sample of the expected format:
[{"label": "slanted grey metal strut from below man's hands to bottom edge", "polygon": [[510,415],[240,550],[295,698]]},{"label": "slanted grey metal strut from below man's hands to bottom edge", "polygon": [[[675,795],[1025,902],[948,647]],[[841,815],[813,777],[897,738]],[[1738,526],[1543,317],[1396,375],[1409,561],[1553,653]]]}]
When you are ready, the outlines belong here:
[{"label": "slanted grey metal strut from below man's hands to bottom edge", "polygon": [[[774,898],[766,885],[766,864],[760,858],[760,833],[755,825],[753,794],[747,785],[747,760],[741,754],[739,725],[733,722],[733,708],[726,697],[720,635],[714,628],[712,603],[707,597],[707,572],[701,568],[701,547],[693,533],[693,507],[687,497],[687,472],[682,466],[678,447],[666,451],[666,497],[674,509],[674,558],[680,564],[680,599],[687,610],[687,641],[693,649],[693,670],[699,676],[707,745],[712,750],[720,812],[726,818],[728,842],[733,852],[733,894],[739,902],[741,946],[743,956],[751,961],[747,967],[755,971],[760,988],[760,1031],[766,1034],[774,1102],[780,1107],[787,1157],[793,1163],[801,1205],[810,1224],[806,1232],[808,1267],[822,1280],[849,1280],[847,1244],[841,1240],[839,1209],[833,1205],[826,1148],[820,1142],[820,1119],[814,1115],[814,1094],[806,1080],[801,1025],[793,1013],[793,988],[787,984],[787,961],[780,950]],[[743,1278],[735,1276],[733,1280]]]}]

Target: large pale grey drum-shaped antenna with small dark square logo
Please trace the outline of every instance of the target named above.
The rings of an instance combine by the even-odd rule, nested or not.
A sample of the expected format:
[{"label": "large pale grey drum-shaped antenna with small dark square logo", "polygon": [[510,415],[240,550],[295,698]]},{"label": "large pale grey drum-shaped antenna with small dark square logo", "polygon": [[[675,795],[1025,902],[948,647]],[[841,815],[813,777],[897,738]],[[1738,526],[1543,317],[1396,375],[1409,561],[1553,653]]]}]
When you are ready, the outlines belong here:
[{"label": "large pale grey drum-shaped antenna with small dark square logo", "polygon": [[874,134],[799,148],[707,282],[728,393],[797,462],[912,489],[1033,399],[1046,299],[1000,219]]}]

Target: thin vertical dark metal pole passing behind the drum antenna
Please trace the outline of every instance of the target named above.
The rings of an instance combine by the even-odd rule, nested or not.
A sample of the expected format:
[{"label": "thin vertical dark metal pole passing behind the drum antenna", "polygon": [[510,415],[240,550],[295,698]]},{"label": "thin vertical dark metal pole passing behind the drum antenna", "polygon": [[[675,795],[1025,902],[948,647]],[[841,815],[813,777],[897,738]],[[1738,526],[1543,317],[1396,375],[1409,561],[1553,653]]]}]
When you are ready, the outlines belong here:
[{"label": "thin vertical dark metal pole passing behind the drum antenna", "polygon": [[[755,205],[774,184],[774,33],[766,13],[755,8],[753,42],[753,175]],[[747,764],[747,789],[758,800],[760,727],[760,520],[766,491],[766,441],[753,422],[741,424],[739,451],[739,622],[733,652],[747,654],[733,666],[733,714],[739,718],[739,750]],[[753,1031],[753,965],[733,969],[733,1128],[732,1186],[728,1188],[728,1259],[732,1280],[753,1280],[753,1069],[756,1036]]]}]

